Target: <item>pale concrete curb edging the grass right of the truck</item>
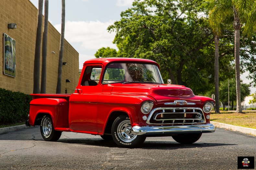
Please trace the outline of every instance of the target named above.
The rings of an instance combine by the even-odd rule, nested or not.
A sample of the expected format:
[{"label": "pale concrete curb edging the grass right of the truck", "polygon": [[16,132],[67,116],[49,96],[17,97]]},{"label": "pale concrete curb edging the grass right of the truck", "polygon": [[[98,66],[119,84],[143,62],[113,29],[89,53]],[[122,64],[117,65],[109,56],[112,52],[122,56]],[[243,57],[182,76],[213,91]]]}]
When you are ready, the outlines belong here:
[{"label": "pale concrete curb edging the grass right of the truck", "polygon": [[213,121],[211,121],[211,124],[213,124],[215,127],[225,128],[227,130],[233,130],[233,131],[242,132],[242,133],[245,133],[245,134],[256,136],[256,129],[252,129],[252,128],[248,128],[248,127],[235,126],[235,125],[229,125],[229,124],[213,122]]}]

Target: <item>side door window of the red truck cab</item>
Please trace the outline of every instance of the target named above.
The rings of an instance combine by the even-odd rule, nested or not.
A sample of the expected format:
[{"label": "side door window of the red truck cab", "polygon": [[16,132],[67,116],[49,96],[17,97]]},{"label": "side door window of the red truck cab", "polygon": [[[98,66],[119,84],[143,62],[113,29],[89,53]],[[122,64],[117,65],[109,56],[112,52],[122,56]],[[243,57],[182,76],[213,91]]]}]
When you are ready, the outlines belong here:
[{"label": "side door window of the red truck cab", "polygon": [[102,68],[100,66],[87,66],[81,85],[82,86],[98,85],[101,70]]}]

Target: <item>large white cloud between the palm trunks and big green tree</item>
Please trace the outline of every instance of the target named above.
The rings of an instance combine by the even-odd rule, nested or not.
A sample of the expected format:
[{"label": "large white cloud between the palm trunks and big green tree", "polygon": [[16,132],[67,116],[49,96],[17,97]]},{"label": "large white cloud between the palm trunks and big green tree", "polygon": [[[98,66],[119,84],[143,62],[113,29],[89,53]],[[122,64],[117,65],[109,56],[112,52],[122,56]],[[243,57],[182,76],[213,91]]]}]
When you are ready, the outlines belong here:
[{"label": "large white cloud between the palm trunks and big green tree", "polygon": [[[112,43],[115,33],[107,31],[107,27],[113,23],[114,21],[67,21],[65,23],[65,39],[72,45],[76,44],[76,48],[82,50],[95,50],[96,52],[101,47],[116,48],[116,45]],[[54,25],[54,27],[60,32],[60,24]]]}]

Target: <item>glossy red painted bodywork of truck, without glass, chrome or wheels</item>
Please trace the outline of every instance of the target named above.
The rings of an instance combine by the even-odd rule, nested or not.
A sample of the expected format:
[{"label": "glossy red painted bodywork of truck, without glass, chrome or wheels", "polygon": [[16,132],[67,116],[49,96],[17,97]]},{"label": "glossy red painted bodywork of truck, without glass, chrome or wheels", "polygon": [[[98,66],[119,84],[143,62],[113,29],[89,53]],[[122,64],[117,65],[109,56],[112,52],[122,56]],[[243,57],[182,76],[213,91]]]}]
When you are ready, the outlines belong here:
[{"label": "glossy red painted bodywork of truck, without glass, chrome or wheels", "polygon": [[[76,91],[73,94],[32,94],[29,124],[34,126],[42,114],[52,117],[55,130],[103,135],[112,113],[124,113],[130,117],[132,126],[149,126],[143,120],[141,106],[145,101],[157,107],[199,107],[205,102],[215,101],[209,97],[196,96],[190,88],[182,85],[156,83],[113,83],[102,84],[104,69],[112,62],[130,62],[159,65],[151,60],[135,58],[100,58],[84,63]],[[101,68],[99,80],[91,80],[91,68]],[[86,82],[96,83],[85,85]],[[175,100],[186,100],[195,105],[165,105]],[[148,116],[149,114],[146,114]],[[206,123],[210,120],[206,119]],[[112,118],[113,119],[113,118]],[[114,118],[115,119],[115,118]],[[152,126],[152,125],[150,125]]]}]

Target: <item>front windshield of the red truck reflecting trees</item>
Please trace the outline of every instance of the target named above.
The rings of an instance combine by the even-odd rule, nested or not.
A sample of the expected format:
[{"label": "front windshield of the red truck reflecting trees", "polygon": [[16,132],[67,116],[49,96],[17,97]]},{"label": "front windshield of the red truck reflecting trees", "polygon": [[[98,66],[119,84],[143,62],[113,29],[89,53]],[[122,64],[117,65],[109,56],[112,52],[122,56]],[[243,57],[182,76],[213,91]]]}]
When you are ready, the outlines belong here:
[{"label": "front windshield of the red truck reflecting trees", "polygon": [[105,69],[103,84],[129,82],[163,84],[163,79],[157,65],[152,64],[112,63]]}]

